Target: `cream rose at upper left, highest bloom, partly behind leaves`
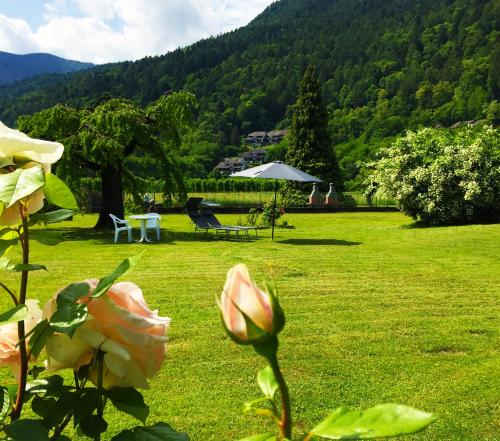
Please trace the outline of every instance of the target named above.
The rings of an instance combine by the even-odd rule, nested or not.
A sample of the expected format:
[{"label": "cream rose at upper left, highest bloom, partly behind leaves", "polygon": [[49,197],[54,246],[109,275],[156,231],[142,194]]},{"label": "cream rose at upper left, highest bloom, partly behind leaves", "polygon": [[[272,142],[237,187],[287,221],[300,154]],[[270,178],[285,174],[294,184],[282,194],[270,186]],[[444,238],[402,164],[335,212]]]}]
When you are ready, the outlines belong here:
[{"label": "cream rose at upper left, highest bloom, partly behind leaves", "polygon": [[[51,164],[58,161],[64,151],[58,142],[33,139],[18,130],[9,129],[0,122],[0,174],[17,168],[29,168],[40,164],[45,173],[50,173]],[[43,208],[43,190],[23,198],[27,214],[36,213]],[[5,207],[0,202],[0,225],[14,225],[21,222],[21,204],[16,202]]]}]

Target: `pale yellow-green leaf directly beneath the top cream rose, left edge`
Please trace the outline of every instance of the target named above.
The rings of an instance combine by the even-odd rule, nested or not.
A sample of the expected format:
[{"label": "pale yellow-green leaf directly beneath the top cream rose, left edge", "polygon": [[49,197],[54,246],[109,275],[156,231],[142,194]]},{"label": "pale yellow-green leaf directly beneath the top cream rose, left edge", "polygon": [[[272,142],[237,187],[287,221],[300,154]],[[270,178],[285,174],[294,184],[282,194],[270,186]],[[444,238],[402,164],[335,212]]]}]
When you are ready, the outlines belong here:
[{"label": "pale yellow-green leaf directly beneath the top cream rose, left edge", "polygon": [[44,185],[45,176],[41,165],[18,168],[12,173],[0,175],[0,201],[9,208]]}]

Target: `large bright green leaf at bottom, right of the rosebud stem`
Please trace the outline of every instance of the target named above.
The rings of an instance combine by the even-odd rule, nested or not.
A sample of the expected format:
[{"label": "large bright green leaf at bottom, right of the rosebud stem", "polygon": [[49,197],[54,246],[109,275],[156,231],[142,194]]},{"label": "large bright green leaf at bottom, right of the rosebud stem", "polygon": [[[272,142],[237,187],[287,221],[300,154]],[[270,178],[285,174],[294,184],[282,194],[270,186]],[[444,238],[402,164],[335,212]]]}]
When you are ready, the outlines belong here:
[{"label": "large bright green leaf at bottom, right of the rosebud stem", "polygon": [[339,407],[311,433],[326,439],[371,439],[419,432],[436,418],[401,404],[379,404],[367,410]]}]

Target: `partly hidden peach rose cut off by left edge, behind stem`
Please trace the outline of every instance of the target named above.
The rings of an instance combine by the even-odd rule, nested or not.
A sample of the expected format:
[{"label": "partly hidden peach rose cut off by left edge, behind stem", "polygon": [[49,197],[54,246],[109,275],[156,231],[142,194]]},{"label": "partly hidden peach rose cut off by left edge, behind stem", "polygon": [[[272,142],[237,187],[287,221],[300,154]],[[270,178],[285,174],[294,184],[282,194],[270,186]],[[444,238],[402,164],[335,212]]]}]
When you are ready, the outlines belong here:
[{"label": "partly hidden peach rose cut off by left edge, behind stem", "polygon": [[[29,318],[24,321],[26,333],[31,331],[40,321],[42,311],[38,307],[38,300],[26,300]],[[0,366],[10,366],[17,380],[20,374],[19,335],[17,323],[0,325]]]}]

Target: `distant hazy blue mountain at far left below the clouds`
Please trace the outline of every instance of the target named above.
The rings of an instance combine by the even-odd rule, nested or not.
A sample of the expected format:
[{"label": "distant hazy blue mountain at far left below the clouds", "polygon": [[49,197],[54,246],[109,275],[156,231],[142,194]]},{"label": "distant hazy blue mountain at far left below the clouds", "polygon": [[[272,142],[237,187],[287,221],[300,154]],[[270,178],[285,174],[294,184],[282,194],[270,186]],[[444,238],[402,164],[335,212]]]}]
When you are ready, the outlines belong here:
[{"label": "distant hazy blue mountain at far left below the clouds", "polygon": [[0,85],[40,74],[74,72],[93,66],[92,63],[66,60],[51,54],[16,55],[0,51]]}]

